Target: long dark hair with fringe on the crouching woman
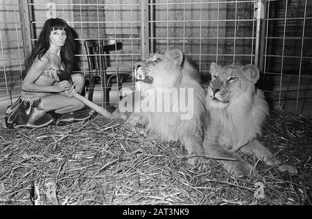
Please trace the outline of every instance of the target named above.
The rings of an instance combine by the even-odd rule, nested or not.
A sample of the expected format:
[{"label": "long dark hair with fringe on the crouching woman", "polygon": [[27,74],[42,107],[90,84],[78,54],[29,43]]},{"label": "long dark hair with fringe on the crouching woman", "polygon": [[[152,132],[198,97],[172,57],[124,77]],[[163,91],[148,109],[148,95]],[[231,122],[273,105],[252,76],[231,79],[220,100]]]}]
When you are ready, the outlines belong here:
[{"label": "long dark hair with fringe on the crouching woman", "polygon": [[[60,51],[60,57],[62,59],[62,64],[64,64],[64,69],[67,73],[71,74],[73,69],[73,53],[75,51],[75,41],[73,40],[73,34],[71,32],[71,28],[67,24],[66,21],[60,18],[51,18],[46,20],[42,31],[40,32],[39,39],[37,44],[35,44],[35,48],[31,52],[31,55],[26,60],[26,66],[23,74],[21,75],[21,79],[24,79],[29,68],[33,64],[33,61],[36,57],[40,59],[47,50],[50,48],[50,34],[52,30],[64,30],[67,35],[67,39],[65,41],[64,46],[62,46]],[[41,59],[40,59],[41,60]]]}]

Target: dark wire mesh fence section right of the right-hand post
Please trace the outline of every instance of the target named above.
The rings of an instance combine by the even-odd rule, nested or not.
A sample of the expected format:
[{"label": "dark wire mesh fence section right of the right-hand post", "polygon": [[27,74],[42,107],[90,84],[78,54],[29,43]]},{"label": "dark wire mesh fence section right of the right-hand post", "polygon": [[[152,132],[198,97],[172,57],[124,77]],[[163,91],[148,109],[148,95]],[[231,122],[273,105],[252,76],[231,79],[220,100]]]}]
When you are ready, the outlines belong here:
[{"label": "dark wire mesh fence section right of the right-hand post", "polygon": [[263,73],[266,91],[279,108],[311,111],[312,2],[266,1]]}]

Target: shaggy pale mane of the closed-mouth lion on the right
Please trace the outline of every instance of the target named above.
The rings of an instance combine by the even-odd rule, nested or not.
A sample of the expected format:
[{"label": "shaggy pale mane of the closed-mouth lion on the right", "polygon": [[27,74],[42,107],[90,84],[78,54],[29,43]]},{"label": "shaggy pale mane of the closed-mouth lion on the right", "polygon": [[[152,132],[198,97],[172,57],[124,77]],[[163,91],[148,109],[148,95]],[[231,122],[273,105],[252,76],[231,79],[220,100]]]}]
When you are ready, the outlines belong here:
[{"label": "shaggy pale mane of the closed-mouth lion on the right", "polygon": [[[212,68],[211,70],[218,72],[218,69]],[[209,86],[210,92],[206,96],[206,108],[211,117],[210,128],[223,128],[229,135],[234,149],[238,149],[239,146],[253,140],[257,134],[261,134],[261,126],[269,114],[268,104],[262,91],[254,86],[259,75],[250,75],[248,70],[252,71],[254,68],[248,66],[243,69],[242,66],[232,65],[219,70],[218,77],[223,74],[230,78],[235,72],[239,77],[237,80],[240,80],[238,86],[231,86],[228,83],[227,91],[230,94],[226,104],[216,102],[211,98],[211,85]],[[256,78],[252,78],[253,76]],[[232,95],[232,93],[236,94]]]}]

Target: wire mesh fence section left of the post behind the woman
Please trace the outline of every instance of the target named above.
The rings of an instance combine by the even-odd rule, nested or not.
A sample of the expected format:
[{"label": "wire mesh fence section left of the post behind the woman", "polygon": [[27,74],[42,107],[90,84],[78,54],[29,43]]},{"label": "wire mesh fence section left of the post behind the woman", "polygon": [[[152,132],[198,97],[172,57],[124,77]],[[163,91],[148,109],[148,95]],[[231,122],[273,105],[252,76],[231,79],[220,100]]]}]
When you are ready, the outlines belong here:
[{"label": "wire mesh fence section left of the post behind the woman", "polygon": [[20,94],[24,68],[24,43],[19,2],[0,2],[0,118]]}]

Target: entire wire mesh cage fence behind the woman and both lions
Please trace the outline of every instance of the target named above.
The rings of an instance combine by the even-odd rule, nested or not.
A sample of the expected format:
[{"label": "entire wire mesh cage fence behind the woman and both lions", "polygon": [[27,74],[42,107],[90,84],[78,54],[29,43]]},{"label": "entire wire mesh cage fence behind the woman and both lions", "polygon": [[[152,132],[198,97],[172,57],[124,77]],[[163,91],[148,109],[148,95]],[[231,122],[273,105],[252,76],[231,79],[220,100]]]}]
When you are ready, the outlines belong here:
[{"label": "entire wire mesh cage fence behind the woman and both lions", "polygon": [[311,8],[307,0],[2,0],[1,113],[19,94],[24,59],[50,17],[73,28],[74,70],[94,80],[92,100],[102,106],[134,88],[136,61],[178,48],[205,79],[212,61],[256,64],[269,99],[300,113],[312,97]]}]

